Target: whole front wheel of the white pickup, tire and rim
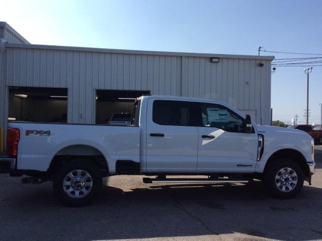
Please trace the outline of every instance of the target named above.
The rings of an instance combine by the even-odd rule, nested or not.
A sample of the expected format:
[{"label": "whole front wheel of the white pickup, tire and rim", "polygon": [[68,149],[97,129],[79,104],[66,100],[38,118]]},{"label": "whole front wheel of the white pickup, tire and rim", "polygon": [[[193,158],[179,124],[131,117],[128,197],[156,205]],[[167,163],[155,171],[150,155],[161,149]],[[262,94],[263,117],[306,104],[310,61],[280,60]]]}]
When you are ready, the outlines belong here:
[{"label": "whole front wheel of the white pickup, tire and rim", "polygon": [[264,173],[267,191],[277,198],[292,198],[303,186],[303,172],[293,160],[279,158],[270,162]]}]

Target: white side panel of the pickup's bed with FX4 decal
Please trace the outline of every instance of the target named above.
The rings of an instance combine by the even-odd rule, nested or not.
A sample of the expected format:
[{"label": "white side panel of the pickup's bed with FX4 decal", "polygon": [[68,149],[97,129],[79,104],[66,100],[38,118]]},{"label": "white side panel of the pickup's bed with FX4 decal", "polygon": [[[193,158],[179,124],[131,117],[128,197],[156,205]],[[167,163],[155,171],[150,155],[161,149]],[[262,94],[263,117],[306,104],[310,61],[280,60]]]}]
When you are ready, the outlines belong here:
[{"label": "white side panel of the pickup's bed with FX4 decal", "polygon": [[[103,155],[109,172],[115,172],[118,159],[139,162],[140,130],[138,126],[93,124],[10,122],[9,128],[20,129],[17,169],[45,172],[55,155]],[[68,150],[73,146],[73,150]],[[84,153],[83,153],[84,152]]]}]

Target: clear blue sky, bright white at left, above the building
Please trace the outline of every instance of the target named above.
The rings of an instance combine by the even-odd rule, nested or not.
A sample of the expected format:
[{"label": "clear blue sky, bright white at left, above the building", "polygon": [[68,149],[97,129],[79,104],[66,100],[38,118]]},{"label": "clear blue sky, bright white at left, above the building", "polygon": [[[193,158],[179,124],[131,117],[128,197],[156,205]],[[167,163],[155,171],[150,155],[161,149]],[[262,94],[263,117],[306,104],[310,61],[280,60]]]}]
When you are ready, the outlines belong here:
[{"label": "clear blue sky, bright white at left, above the building", "polygon": [[[322,54],[322,1],[6,1],[0,21],[33,44],[257,55]],[[271,54],[276,58],[301,55]],[[304,122],[304,67],[272,74],[273,120]],[[310,75],[310,122],[320,122],[322,66]]]}]

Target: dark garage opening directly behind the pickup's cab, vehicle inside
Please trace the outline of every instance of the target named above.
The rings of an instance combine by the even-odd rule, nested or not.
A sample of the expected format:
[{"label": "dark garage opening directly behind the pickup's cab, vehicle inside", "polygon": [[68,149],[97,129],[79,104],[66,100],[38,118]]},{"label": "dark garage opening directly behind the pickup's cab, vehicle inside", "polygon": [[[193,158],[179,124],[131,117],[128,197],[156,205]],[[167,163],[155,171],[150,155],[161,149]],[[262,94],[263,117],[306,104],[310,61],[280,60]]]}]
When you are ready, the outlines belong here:
[{"label": "dark garage opening directly behind the pickup's cab, vehicle inside", "polygon": [[149,91],[96,90],[96,123],[109,124],[113,114],[130,114],[135,99]]}]

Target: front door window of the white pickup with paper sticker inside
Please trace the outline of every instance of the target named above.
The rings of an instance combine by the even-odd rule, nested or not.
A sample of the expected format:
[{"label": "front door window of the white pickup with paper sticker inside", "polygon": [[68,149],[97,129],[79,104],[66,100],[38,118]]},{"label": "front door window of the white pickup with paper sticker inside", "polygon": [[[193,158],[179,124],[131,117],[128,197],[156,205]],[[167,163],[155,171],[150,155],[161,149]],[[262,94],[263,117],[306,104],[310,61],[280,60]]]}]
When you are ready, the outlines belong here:
[{"label": "front door window of the white pickup with paper sticker inside", "polygon": [[199,103],[200,126],[216,127],[230,132],[243,132],[244,119],[227,107],[211,104]]}]

